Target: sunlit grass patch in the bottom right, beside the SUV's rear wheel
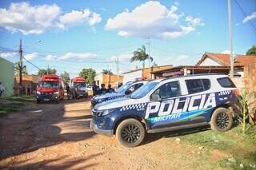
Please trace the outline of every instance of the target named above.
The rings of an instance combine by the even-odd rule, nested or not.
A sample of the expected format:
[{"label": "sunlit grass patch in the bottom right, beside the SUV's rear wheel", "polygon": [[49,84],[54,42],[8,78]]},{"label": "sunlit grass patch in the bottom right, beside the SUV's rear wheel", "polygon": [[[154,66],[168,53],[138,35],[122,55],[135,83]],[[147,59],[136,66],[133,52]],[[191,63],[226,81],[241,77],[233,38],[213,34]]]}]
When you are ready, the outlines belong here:
[{"label": "sunlit grass patch in the bottom right, beside the SUV's rear wheel", "polygon": [[[222,152],[217,168],[228,169],[256,169],[256,127],[248,125],[245,135],[242,127],[238,125],[228,132],[214,132],[211,130],[186,130],[185,133],[174,133],[166,137],[178,137],[182,143],[204,147],[209,151]],[[211,156],[204,153],[206,159]],[[208,158],[207,158],[208,157]]]}]

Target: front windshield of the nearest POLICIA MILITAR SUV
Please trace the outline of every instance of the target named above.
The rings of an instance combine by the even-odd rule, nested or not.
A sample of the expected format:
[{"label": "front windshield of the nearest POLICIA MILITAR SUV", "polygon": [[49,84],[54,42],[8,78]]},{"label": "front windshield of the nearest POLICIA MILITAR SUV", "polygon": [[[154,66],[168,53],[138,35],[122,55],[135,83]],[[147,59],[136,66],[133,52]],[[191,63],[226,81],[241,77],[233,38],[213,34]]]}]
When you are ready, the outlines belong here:
[{"label": "front windshield of the nearest POLICIA MILITAR SUV", "polygon": [[130,95],[130,98],[138,99],[145,97],[147,93],[150,92],[151,89],[154,89],[156,85],[158,85],[159,81],[151,81],[149,83],[146,83],[146,85],[143,85],[140,90],[136,90],[134,93]]}]

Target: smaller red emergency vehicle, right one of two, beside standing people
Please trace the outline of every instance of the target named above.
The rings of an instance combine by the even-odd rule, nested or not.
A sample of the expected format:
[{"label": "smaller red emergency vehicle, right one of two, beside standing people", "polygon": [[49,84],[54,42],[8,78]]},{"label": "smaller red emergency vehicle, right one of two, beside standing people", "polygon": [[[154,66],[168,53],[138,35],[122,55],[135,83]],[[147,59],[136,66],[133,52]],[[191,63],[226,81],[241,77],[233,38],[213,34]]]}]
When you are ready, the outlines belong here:
[{"label": "smaller red emergency vehicle, right one of two, beside standing people", "polygon": [[70,80],[69,97],[72,97],[73,99],[79,99],[80,97],[88,97],[86,79],[84,77],[74,77]]}]

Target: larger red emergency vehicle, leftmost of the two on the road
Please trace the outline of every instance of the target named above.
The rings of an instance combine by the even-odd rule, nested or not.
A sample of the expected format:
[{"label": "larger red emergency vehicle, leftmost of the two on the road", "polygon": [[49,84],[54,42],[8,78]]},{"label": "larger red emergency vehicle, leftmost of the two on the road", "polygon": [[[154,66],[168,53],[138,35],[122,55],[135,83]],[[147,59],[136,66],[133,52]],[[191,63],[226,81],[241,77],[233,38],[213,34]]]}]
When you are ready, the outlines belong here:
[{"label": "larger red emergency vehicle, leftmost of the two on the road", "polygon": [[56,101],[64,99],[64,83],[61,77],[48,74],[41,77],[36,92],[37,103],[41,101]]}]

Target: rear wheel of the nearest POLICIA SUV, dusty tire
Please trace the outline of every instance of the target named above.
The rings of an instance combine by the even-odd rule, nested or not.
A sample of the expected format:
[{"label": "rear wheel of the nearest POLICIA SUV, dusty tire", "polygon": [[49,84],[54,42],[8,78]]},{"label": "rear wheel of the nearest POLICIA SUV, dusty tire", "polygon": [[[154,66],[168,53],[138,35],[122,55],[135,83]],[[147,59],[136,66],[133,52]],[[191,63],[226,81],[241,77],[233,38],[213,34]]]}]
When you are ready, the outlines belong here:
[{"label": "rear wheel of the nearest POLICIA SUV, dusty tire", "polygon": [[226,132],[233,125],[233,116],[229,109],[218,108],[210,119],[210,128],[218,132]]}]

